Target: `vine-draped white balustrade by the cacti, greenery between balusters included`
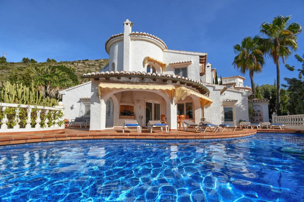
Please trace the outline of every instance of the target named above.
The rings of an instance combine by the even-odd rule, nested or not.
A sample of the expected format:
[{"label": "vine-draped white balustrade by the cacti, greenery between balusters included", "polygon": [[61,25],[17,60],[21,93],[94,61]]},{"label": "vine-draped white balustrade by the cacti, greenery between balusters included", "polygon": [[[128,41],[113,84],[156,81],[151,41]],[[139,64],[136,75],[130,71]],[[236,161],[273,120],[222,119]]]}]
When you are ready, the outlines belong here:
[{"label": "vine-draped white balustrade by the cacti, greenery between balusters included", "polygon": [[63,106],[0,103],[0,133],[64,128]]}]

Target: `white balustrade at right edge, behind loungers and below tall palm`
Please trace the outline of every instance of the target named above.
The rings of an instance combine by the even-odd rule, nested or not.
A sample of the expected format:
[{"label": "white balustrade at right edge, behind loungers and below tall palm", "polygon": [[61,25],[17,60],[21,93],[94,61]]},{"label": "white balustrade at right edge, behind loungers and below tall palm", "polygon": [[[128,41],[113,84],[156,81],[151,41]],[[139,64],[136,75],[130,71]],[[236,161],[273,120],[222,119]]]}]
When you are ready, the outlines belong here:
[{"label": "white balustrade at right edge, behind loungers and below tall palm", "polygon": [[304,114],[277,116],[272,114],[272,121],[276,124],[283,124],[290,129],[304,129]]}]

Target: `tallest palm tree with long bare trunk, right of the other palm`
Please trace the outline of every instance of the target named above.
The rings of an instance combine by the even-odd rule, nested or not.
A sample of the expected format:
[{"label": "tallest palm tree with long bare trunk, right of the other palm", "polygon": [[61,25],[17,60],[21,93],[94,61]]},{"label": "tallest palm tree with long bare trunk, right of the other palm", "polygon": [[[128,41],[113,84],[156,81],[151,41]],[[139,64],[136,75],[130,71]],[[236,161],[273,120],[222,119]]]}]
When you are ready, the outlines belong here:
[{"label": "tallest palm tree with long bare trunk, right of the other palm", "polygon": [[280,106],[280,58],[283,64],[298,49],[297,35],[302,32],[302,27],[294,22],[289,25],[291,16],[279,15],[273,18],[272,23],[263,22],[260,32],[267,38],[264,40],[266,53],[273,59],[277,66],[277,114],[281,114]]}]

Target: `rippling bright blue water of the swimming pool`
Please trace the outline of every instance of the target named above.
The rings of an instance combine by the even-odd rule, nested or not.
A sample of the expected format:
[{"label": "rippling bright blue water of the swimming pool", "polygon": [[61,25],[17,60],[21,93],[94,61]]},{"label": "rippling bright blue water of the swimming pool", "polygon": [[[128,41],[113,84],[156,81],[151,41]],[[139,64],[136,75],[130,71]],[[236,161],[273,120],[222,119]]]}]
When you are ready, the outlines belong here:
[{"label": "rippling bright blue water of the swimming pool", "polygon": [[0,149],[0,201],[303,201],[304,135]]}]

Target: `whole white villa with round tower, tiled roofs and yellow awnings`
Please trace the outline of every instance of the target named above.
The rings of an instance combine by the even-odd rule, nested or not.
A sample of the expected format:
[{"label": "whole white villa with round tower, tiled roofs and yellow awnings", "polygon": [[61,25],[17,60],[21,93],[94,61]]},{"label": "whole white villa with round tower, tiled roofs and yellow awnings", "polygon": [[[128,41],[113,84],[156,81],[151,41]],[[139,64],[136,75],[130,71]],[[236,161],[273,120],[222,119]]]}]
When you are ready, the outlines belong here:
[{"label": "whole white villa with round tower, tiled roofs and yellow awnings", "polygon": [[125,120],[146,126],[161,114],[171,130],[177,129],[177,114],[196,123],[248,121],[251,89],[243,86],[244,77],[213,84],[215,69],[207,53],[170,50],[154,35],[132,32],[129,20],[123,25],[123,33],[105,42],[109,64],[81,77],[90,82],[60,91],[65,118],[90,116],[94,131],[122,127]]}]

